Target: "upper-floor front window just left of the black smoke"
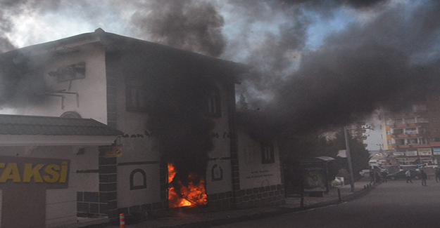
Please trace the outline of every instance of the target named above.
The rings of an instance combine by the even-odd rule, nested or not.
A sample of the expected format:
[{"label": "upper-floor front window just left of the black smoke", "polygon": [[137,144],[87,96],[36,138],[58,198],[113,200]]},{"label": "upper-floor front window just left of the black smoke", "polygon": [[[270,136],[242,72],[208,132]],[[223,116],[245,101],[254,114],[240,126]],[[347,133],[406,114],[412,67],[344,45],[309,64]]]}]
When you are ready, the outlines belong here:
[{"label": "upper-floor front window just left of the black smoke", "polygon": [[149,88],[139,80],[132,79],[128,81],[125,88],[127,111],[147,112],[149,99],[151,99],[148,92]]}]

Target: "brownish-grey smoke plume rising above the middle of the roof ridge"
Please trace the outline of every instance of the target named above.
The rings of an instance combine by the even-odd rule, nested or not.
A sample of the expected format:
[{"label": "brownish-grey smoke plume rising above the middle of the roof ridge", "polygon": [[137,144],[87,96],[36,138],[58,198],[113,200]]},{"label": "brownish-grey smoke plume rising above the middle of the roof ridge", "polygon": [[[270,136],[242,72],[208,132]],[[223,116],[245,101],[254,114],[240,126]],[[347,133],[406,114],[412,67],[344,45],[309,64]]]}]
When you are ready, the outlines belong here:
[{"label": "brownish-grey smoke plume rising above the middle of the roof ridge", "polygon": [[132,23],[137,31],[168,46],[218,57],[225,49],[225,24],[213,4],[206,1],[151,1],[137,11]]}]

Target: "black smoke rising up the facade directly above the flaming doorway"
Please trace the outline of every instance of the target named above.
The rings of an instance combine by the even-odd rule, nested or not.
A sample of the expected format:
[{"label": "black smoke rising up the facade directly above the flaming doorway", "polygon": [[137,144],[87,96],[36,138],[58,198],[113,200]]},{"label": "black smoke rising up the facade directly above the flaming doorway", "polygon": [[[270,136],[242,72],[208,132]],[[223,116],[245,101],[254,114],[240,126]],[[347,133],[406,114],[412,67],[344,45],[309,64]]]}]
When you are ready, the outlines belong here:
[{"label": "black smoke rising up the facade directly above the flaming doorway", "polygon": [[147,129],[157,136],[165,161],[177,170],[174,181],[187,186],[191,173],[204,177],[208,152],[214,148],[210,133],[215,123],[206,115],[210,79],[184,74],[149,83],[154,84],[156,93]]}]

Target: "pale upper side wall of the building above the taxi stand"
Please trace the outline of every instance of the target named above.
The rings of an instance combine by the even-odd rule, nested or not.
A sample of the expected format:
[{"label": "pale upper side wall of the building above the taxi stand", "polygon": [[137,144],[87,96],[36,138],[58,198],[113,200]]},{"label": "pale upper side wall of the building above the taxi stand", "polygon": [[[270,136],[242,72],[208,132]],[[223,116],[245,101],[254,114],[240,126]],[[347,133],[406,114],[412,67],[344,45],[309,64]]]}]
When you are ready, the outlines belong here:
[{"label": "pale upper side wall of the building above the taxi stand", "polygon": [[[77,47],[75,47],[77,48]],[[78,47],[79,49],[80,47]],[[50,58],[48,54],[34,56],[31,60],[35,65],[42,65],[40,73],[44,75],[46,86],[51,90],[66,90],[78,93],[76,95],[65,94],[64,105],[61,107],[61,98],[44,96],[44,104],[38,106],[29,105],[15,109],[15,114],[37,116],[61,116],[64,112],[75,111],[84,119],[95,119],[101,123],[107,123],[106,103],[106,65],[105,53],[101,46],[86,44],[81,51],[58,55]],[[78,62],[86,62],[84,79],[65,81],[58,83],[56,77],[49,76],[48,72],[55,71],[58,67],[67,67]],[[41,91],[44,93],[45,91]]]}]

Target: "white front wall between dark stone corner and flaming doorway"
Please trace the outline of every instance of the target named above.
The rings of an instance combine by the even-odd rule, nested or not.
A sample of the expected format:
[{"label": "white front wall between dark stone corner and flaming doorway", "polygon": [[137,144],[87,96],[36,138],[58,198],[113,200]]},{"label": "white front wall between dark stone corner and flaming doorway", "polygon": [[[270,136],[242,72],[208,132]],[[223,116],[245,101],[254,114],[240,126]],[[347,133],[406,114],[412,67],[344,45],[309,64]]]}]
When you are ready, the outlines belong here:
[{"label": "white front wall between dark stone corner and flaming doorway", "polygon": [[[128,135],[144,135],[144,138],[121,138],[122,156],[118,163],[141,162],[118,166],[118,208],[156,203],[161,201],[161,180],[159,161],[161,152],[152,138],[145,134],[147,114],[144,112],[127,112],[125,109],[125,81],[118,79],[121,86],[117,93],[117,128]],[[130,190],[130,173],[141,168],[146,173],[146,189]],[[139,174],[139,173],[138,173]]]}]

